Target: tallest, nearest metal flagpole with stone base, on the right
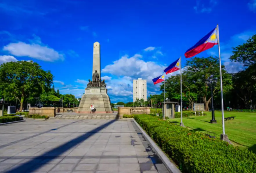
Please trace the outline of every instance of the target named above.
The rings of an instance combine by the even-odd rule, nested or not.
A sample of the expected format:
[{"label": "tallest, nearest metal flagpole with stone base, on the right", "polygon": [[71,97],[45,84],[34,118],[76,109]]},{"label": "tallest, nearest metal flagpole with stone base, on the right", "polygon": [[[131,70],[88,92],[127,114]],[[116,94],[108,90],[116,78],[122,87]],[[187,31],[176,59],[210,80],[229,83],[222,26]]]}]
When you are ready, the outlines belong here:
[{"label": "tallest, nearest metal flagpole with stone base, on the right", "polygon": [[219,73],[220,73],[220,87],[221,87],[221,114],[222,114],[222,130],[223,130],[223,134],[221,134],[221,139],[224,141],[229,141],[228,136],[225,134],[225,125],[224,125],[223,87],[222,87],[220,45],[219,45],[219,24],[217,24],[217,41],[219,46]]}]

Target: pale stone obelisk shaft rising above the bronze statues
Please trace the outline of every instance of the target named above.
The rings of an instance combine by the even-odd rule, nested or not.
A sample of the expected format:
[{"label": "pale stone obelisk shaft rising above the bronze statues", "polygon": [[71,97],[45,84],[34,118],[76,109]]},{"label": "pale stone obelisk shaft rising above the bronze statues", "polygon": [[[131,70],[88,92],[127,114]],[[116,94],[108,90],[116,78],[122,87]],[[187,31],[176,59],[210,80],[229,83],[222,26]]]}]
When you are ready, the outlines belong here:
[{"label": "pale stone obelisk shaft rising above the bronze statues", "polygon": [[100,43],[98,41],[93,43],[93,73],[95,70],[97,70],[100,76]]}]

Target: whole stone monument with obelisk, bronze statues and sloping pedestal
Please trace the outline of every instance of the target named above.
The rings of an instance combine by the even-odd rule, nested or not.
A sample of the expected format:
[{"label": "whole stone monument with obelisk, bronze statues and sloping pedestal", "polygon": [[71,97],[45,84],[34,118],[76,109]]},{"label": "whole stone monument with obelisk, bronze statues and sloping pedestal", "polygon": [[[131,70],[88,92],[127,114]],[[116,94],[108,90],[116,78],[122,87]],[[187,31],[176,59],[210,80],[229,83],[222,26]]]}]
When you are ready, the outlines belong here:
[{"label": "whole stone monument with obelisk, bronze statues and sloping pedestal", "polygon": [[105,80],[100,78],[100,43],[93,43],[93,73],[89,79],[85,93],[77,108],[77,113],[90,113],[90,106],[95,106],[95,113],[113,113],[107,94]]}]

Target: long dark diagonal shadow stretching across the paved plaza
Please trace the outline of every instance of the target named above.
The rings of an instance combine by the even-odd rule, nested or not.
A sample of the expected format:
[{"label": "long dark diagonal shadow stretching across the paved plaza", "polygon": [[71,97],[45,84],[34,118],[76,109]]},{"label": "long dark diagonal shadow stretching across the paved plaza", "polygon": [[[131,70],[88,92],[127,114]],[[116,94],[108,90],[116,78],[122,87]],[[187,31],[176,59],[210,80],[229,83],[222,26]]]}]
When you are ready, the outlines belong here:
[{"label": "long dark diagonal shadow stretching across the paved plaza", "polygon": [[[81,135],[81,136],[79,136],[75,139],[72,139],[71,141],[68,141],[68,142],[62,144],[59,147],[54,148],[54,149],[42,154],[41,156],[33,158],[31,161],[23,163],[20,166],[17,166],[15,168],[13,168],[12,170],[6,171],[6,173],[17,173],[17,172],[30,173],[30,172],[34,172],[37,169],[39,169],[41,166],[43,166],[43,165],[47,164],[48,162],[50,162],[51,160],[56,159],[57,157],[59,157],[60,154],[66,152],[67,150],[71,149],[75,145],[85,141],[86,139],[93,136],[95,133],[99,132],[100,130],[109,126],[110,124],[112,124],[115,121],[116,121],[116,119],[113,119],[113,120],[103,124],[102,126],[99,126],[98,128],[95,128],[95,129],[93,129],[89,132],[86,132],[85,134],[83,134],[83,135]],[[39,160],[43,161],[43,163],[41,162],[41,164],[39,164],[38,163]]]}]

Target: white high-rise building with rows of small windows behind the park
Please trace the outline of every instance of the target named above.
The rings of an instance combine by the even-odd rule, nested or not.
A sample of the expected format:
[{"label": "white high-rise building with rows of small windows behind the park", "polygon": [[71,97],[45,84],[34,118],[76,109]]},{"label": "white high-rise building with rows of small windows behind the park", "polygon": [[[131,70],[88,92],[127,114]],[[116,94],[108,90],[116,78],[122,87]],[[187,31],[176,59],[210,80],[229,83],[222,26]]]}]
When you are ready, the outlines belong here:
[{"label": "white high-rise building with rows of small windows behind the park", "polygon": [[142,80],[138,78],[138,80],[133,80],[133,102],[136,99],[147,100],[147,80]]}]

